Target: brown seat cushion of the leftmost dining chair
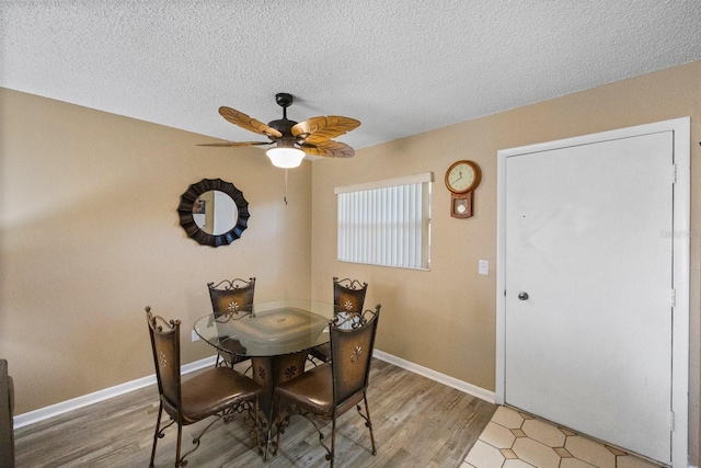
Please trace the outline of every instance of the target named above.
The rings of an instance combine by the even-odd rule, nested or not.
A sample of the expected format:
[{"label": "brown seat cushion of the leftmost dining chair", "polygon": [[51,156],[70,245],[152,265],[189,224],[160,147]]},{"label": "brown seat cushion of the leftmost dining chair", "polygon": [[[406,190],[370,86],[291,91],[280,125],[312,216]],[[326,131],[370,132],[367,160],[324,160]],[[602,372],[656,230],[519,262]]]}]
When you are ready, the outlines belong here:
[{"label": "brown seat cushion of the leftmost dining chair", "polygon": [[215,367],[184,381],[181,400],[185,423],[199,421],[261,392],[261,386],[229,367]]}]

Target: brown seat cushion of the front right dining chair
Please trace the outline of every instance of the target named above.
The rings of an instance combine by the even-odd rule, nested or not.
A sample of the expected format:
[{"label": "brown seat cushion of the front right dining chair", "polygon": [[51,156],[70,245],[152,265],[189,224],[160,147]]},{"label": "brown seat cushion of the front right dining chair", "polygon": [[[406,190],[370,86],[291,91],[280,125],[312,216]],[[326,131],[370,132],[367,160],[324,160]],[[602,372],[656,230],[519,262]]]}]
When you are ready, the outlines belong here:
[{"label": "brown seat cushion of the front right dining chair", "polygon": [[[299,377],[280,384],[275,390],[279,398],[297,404],[320,416],[331,416],[333,409],[333,380],[331,363],[321,364]],[[345,413],[349,408],[363,400],[358,392],[336,410],[336,415]]]}]

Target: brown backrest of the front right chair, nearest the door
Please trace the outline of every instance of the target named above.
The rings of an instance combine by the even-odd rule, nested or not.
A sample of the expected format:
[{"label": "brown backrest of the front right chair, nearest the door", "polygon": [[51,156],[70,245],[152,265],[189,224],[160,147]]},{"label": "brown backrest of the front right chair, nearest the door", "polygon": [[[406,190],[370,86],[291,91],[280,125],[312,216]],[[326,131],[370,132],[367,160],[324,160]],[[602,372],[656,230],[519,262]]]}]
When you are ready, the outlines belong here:
[{"label": "brown backrest of the front right chair, nearest the door", "polygon": [[[375,311],[354,315],[350,328],[338,327],[334,321],[330,324],[333,399],[336,407],[368,386],[379,317],[378,304]],[[347,320],[341,320],[347,323]]]}]

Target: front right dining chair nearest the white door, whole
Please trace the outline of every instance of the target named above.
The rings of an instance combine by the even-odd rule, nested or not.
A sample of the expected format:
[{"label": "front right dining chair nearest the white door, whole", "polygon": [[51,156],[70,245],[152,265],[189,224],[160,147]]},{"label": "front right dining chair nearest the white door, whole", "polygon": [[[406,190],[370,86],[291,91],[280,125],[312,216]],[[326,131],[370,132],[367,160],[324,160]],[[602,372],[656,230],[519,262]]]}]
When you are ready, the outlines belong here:
[{"label": "front right dining chair nearest the white door, whole", "polygon": [[[333,467],[336,421],[355,406],[370,432],[372,455],[377,455],[367,388],[379,317],[379,304],[375,307],[375,311],[366,310],[345,318],[336,316],[329,327],[331,362],[313,367],[275,389],[277,436],[274,454],[279,448],[283,427],[289,424],[291,415],[300,414],[308,419],[319,432],[319,442],[326,449],[326,459]],[[289,404],[285,418],[281,414],[283,402]],[[365,413],[360,402],[365,404]],[[325,437],[321,431],[320,420],[331,420],[331,446],[324,443]]]}]

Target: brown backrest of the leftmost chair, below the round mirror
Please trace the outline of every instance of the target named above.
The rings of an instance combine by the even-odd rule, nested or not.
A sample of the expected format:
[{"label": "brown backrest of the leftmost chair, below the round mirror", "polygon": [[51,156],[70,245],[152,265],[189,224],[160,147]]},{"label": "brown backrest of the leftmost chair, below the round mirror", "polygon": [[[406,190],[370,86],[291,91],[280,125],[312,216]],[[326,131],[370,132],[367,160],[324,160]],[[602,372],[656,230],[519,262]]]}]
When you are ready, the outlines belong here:
[{"label": "brown backrest of the leftmost chair, below the round mirror", "polygon": [[180,320],[166,322],[162,317],[153,316],[150,307],[146,308],[146,318],[151,335],[158,391],[169,412],[180,411]]}]

